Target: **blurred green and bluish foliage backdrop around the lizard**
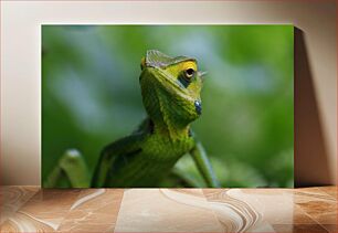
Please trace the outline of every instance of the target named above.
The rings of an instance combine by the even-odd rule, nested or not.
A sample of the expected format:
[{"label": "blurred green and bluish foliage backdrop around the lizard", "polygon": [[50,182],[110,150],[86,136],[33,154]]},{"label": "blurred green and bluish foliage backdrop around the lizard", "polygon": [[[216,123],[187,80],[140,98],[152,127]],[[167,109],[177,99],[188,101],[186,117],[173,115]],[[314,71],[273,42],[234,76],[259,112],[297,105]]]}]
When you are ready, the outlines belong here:
[{"label": "blurred green and bluish foliage backdrop around the lizard", "polygon": [[[192,127],[222,186],[293,187],[293,34],[292,25],[43,25],[42,179],[67,148],[93,172],[101,149],[138,126],[140,59],[156,49],[208,71]],[[203,187],[189,157],[176,169]]]}]

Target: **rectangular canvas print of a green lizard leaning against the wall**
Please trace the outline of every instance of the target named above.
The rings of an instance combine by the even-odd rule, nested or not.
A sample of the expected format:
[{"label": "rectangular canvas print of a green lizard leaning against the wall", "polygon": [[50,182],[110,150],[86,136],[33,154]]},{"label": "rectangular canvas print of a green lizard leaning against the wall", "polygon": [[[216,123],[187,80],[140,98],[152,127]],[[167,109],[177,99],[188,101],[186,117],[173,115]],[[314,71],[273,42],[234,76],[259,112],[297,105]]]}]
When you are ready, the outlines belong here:
[{"label": "rectangular canvas print of a green lizard leaning against the wall", "polygon": [[42,25],[42,187],[293,187],[293,25]]}]

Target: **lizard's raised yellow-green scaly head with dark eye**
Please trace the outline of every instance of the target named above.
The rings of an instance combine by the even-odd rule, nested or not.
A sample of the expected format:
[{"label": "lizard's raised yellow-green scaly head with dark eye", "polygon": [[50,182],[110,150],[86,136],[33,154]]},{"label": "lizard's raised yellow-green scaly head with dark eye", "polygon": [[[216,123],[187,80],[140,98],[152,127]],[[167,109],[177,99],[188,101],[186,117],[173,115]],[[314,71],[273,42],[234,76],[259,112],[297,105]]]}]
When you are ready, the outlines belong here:
[{"label": "lizard's raised yellow-green scaly head with dark eye", "polygon": [[202,75],[192,57],[147,51],[141,60],[140,86],[149,116],[182,126],[197,119],[202,110]]}]

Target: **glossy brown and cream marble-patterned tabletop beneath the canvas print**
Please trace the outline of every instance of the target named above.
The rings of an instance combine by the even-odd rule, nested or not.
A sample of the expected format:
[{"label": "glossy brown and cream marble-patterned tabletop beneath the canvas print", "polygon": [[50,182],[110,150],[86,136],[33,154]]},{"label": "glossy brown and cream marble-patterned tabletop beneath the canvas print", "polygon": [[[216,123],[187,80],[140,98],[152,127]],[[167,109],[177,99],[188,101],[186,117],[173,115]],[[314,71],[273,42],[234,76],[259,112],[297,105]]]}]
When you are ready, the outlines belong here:
[{"label": "glossy brown and cream marble-patterned tabletop beneath the canvas print", "polygon": [[337,187],[1,187],[1,232],[338,232]]}]

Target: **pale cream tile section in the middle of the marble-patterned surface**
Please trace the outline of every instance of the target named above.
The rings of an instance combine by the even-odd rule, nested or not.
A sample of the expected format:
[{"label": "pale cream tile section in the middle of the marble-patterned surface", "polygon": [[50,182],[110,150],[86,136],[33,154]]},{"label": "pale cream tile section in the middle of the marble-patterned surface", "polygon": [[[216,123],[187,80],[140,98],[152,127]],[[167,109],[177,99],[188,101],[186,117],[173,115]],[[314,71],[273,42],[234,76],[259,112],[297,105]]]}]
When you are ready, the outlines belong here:
[{"label": "pale cream tile section in the middle of the marble-patterned surface", "polygon": [[116,232],[222,232],[200,189],[129,189]]}]

